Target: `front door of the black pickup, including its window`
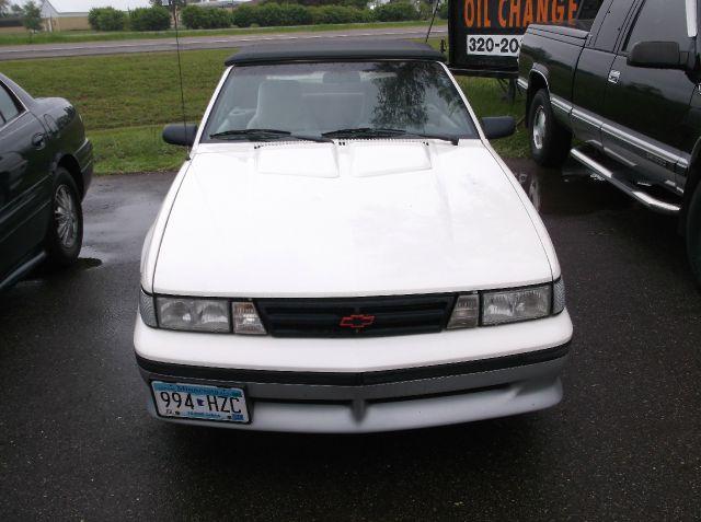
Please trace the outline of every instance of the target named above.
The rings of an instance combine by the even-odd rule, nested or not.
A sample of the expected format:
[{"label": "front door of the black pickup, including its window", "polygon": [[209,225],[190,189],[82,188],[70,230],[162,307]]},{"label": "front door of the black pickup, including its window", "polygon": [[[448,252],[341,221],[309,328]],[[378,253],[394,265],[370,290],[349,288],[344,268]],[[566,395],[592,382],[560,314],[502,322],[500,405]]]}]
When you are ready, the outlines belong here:
[{"label": "front door of the black pickup, including its window", "polygon": [[676,186],[681,128],[696,83],[681,70],[627,63],[637,42],[677,42],[693,49],[685,2],[645,0],[619,43],[606,84],[601,138],[607,152],[653,183]]}]

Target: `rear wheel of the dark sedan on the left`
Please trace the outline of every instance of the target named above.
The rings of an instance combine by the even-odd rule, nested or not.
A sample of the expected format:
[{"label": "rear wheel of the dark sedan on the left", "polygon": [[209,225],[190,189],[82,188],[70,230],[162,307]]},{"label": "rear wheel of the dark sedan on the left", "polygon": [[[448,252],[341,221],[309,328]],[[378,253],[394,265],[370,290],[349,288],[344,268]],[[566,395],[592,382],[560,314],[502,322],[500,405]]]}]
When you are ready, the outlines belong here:
[{"label": "rear wheel of the dark sedan on the left", "polygon": [[51,219],[46,231],[48,262],[68,266],[78,258],[83,242],[83,212],[78,187],[66,169],[59,167],[51,193]]}]

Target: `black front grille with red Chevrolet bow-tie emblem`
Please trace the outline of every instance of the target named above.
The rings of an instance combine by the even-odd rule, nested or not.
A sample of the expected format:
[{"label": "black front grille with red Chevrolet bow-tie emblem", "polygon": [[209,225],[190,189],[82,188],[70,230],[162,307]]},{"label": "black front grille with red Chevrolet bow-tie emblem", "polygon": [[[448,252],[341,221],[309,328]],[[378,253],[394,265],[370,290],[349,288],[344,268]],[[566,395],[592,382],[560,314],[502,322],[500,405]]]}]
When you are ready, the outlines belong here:
[{"label": "black front grille with red Chevrolet bow-tie emblem", "polygon": [[456,295],[357,299],[260,299],[258,313],[276,337],[371,337],[440,332]]}]

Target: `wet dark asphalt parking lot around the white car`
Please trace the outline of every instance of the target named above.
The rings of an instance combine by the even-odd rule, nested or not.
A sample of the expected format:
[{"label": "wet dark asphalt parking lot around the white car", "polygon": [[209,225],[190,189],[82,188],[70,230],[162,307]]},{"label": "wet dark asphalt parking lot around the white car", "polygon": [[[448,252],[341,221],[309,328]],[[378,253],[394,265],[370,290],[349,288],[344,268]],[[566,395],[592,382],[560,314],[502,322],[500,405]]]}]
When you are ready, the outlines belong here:
[{"label": "wet dark asphalt parking lot around the white car", "polygon": [[564,401],[355,437],[150,418],[131,328],[141,240],[172,175],[95,179],[78,266],[0,297],[3,520],[699,520],[701,294],[674,220],[512,164],[567,283]]}]

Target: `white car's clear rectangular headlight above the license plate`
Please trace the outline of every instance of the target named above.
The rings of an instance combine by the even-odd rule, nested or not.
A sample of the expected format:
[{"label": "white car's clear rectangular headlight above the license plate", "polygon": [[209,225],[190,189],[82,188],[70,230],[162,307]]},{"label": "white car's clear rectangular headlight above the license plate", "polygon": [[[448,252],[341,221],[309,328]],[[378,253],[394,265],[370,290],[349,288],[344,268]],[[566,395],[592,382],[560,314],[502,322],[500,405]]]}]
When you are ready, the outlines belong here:
[{"label": "white car's clear rectangular headlight above the license plate", "polygon": [[228,302],[219,299],[156,298],[161,328],[231,332]]}]

